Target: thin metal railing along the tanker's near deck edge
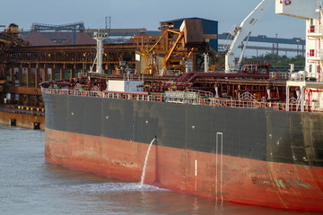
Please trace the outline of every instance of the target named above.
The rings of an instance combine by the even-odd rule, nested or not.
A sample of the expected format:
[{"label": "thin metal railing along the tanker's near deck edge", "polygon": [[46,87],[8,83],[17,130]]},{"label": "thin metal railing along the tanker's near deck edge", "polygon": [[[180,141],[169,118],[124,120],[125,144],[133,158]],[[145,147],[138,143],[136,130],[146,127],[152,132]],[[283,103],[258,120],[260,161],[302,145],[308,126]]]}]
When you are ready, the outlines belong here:
[{"label": "thin metal railing along the tanker's near deck edge", "polygon": [[[240,108],[272,108],[275,110],[286,111],[286,104],[283,102],[258,101],[253,100],[236,100],[231,98],[203,98],[198,99],[171,99],[164,96],[162,93],[147,92],[117,92],[117,91],[88,91],[88,90],[57,90],[42,88],[43,93],[82,96],[82,97],[97,97],[106,99],[127,99],[127,100],[143,100],[152,102],[167,102],[174,104],[189,104],[211,107],[240,107]],[[319,105],[304,105],[304,112],[323,112],[323,108]],[[301,104],[298,101],[289,104],[289,111],[301,112]]]}]

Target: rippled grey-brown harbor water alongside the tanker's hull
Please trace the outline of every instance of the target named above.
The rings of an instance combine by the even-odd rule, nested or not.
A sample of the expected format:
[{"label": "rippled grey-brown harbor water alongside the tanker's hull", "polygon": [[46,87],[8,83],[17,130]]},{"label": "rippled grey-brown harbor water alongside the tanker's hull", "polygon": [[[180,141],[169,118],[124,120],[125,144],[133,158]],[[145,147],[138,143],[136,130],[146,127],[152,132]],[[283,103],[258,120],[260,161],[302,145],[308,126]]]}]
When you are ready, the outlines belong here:
[{"label": "rippled grey-brown harbor water alongside the tanker's hull", "polygon": [[0,137],[0,214],[317,214],[222,204],[50,164],[43,131],[0,125]]}]

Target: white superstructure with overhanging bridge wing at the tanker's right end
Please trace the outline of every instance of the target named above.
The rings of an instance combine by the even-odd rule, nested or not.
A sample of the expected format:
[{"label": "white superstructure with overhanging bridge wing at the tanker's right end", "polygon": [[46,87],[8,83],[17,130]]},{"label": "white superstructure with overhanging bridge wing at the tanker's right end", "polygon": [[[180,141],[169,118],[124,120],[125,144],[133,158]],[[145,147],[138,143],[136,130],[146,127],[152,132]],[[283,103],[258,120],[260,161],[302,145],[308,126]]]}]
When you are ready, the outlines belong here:
[{"label": "white superstructure with overhanging bridge wing at the tanker's right end", "polygon": [[[290,87],[298,87],[297,99],[300,107],[304,105],[322,107],[323,89],[322,77],[322,47],[323,47],[323,2],[310,0],[276,0],[275,13],[303,19],[306,22],[306,57],[304,71],[293,73]],[[287,97],[289,102],[291,97]]]}]

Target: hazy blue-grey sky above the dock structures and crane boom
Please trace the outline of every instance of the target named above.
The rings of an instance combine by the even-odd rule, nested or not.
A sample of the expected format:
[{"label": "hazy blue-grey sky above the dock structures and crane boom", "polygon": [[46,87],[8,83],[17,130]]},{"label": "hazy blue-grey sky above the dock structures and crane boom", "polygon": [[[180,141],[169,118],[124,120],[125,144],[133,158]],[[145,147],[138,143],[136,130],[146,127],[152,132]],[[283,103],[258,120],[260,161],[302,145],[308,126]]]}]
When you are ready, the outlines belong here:
[{"label": "hazy blue-grey sky above the dock structures and crane boom", "polygon": [[[219,22],[219,33],[227,32],[260,3],[260,0],[16,0],[1,4],[0,25],[16,23],[30,30],[32,22],[65,24],[84,22],[85,28],[104,28],[111,16],[111,28],[158,30],[162,21],[200,17]],[[1,29],[0,29],[1,30]],[[266,13],[252,35],[305,38],[305,22],[275,14],[275,5]]]}]

